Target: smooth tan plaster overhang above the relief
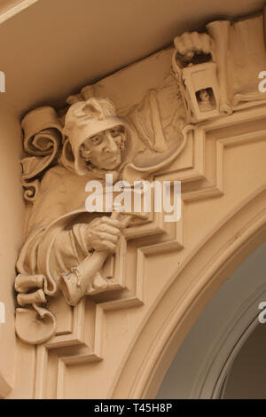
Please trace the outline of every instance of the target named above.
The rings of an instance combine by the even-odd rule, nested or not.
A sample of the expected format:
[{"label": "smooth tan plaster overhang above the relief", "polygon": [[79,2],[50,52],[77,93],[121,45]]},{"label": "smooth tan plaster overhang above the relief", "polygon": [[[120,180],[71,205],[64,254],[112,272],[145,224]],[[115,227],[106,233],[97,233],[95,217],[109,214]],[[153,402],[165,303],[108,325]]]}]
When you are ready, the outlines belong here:
[{"label": "smooth tan plaster overhang above the relief", "polygon": [[[0,12],[14,2],[0,0]],[[6,102],[22,116],[34,106],[64,101],[84,85],[171,45],[186,30],[258,12],[263,3],[39,0],[0,25]]]}]

